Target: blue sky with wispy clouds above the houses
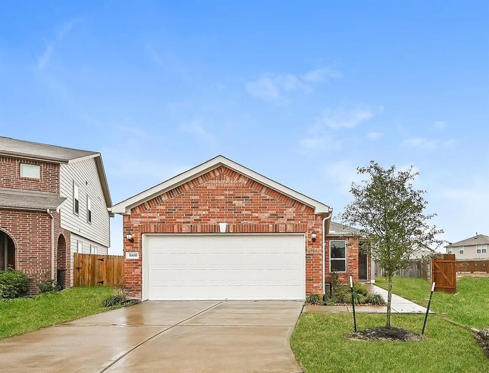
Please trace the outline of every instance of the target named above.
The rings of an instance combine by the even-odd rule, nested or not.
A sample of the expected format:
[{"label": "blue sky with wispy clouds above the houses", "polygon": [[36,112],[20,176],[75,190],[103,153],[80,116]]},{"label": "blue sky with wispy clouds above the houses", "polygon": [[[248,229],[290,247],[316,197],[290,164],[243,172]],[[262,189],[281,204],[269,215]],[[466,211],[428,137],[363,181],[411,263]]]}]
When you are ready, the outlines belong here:
[{"label": "blue sky with wispy clouds above the houses", "polygon": [[[113,202],[222,154],[341,211],[412,164],[489,234],[488,2],[2,2],[0,134],[102,153]],[[111,253],[122,253],[112,219]]]}]

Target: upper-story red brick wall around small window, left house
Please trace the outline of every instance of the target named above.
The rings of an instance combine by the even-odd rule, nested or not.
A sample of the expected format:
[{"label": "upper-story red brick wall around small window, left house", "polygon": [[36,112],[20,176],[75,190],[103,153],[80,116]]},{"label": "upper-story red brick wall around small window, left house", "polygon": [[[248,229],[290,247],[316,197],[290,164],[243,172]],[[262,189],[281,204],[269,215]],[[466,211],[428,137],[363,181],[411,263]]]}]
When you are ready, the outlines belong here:
[{"label": "upper-story red brick wall around small window, left house", "polygon": [[[39,179],[21,177],[21,163],[38,164],[41,177]],[[60,166],[57,163],[0,157],[0,188],[59,193]]]}]

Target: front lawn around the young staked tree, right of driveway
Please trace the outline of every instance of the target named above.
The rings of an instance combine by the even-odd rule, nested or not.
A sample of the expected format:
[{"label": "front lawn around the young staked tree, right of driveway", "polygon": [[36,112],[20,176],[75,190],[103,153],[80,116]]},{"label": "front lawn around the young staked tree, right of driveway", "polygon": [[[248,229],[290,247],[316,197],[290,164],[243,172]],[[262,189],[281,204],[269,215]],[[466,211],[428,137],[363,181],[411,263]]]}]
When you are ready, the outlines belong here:
[{"label": "front lawn around the young staked tree, right of driveway", "polygon": [[[423,315],[392,315],[393,326],[420,332]],[[383,326],[385,314],[357,314],[358,328]],[[419,342],[351,341],[351,314],[304,313],[290,346],[305,373],[489,372],[489,359],[464,328],[437,315]],[[456,346],[456,347],[455,347]]]}]

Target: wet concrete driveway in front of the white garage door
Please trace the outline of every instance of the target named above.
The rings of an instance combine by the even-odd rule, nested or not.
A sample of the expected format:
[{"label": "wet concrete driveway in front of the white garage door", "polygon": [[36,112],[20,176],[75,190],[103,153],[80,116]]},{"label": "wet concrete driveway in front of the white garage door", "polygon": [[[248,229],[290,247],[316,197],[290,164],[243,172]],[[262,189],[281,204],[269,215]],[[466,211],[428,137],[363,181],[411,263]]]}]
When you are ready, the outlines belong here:
[{"label": "wet concrete driveway in front of the white garage door", "polygon": [[302,372],[294,301],[144,302],[0,341],[2,372]]}]

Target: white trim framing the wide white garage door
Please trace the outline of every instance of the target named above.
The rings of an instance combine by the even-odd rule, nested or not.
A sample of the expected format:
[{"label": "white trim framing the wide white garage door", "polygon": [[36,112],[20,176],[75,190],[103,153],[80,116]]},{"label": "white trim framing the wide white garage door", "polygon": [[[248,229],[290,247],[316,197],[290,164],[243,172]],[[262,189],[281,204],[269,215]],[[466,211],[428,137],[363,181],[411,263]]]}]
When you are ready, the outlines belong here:
[{"label": "white trim framing the wide white garage door", "polygon": [[[150,235],[156,235],[156,236],[250,236],[250,235],[302,235],[304,237],[304,255],[303,255],[303,276],[302,276],[302,284],[303,284],[303,295],[304,299],[306,297],[306,233],[143,233],[141,234],[142,236],[142,263],[141,263],[141,268],[142,268],[142,274],[141,274],[141,279],[142,279],[142,301],[147,301],[149,299],[149,262],[148,262],[148,246],[147,246],[147,240],[146,236]],[[125,251],[132,251],[132,250],[125,250]],[[304,299],[301,299],[302,301]]]}]

